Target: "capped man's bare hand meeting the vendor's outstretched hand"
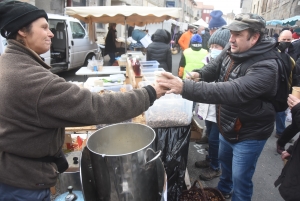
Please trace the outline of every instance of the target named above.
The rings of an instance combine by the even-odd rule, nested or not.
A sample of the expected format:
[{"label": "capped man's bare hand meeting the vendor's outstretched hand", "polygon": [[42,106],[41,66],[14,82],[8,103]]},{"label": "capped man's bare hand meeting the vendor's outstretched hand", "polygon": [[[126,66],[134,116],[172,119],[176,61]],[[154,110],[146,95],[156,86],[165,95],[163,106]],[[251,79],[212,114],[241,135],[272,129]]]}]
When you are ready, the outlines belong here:
[{"label": "capped man's bare hand meeting the vendor's outstretched hand", "polygon": [[156,82],[163,88],[167,88],[167,94],[181,94],[183,90],[183,82],[179,77],[175,77],[172,73],[162,72],[162,76],[168,79],[158,79]]}]

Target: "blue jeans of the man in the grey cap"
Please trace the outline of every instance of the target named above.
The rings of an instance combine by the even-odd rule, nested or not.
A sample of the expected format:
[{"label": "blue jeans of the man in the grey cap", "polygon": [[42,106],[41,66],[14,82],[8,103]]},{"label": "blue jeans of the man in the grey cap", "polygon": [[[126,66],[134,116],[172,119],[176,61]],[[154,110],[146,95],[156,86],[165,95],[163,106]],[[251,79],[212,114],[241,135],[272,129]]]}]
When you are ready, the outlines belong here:
[{"label": "blue jeans of the man in the grey cap", "polygon": [[267,140],[245,140],[230,143],[219,135],[219,160],[222,175],[218,189],[223,194],[232,193],[231,201],[251,201],[252,177],[256,162]]}]

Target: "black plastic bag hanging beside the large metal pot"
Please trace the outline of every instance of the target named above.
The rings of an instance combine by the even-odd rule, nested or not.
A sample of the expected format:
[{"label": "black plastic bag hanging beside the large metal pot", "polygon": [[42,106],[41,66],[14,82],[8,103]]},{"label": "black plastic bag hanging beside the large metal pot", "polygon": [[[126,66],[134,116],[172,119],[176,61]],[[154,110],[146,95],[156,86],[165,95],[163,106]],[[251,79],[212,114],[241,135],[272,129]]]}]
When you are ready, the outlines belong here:
[{"label": "black plastic bag hanging beside the large metal pot", "polygon": [[187,166],[191,127],[154,128],[156,138],[152,148],[161,150],[161,159],[168,177],[168,201],[178,201],[186,190],[184,176]]}]

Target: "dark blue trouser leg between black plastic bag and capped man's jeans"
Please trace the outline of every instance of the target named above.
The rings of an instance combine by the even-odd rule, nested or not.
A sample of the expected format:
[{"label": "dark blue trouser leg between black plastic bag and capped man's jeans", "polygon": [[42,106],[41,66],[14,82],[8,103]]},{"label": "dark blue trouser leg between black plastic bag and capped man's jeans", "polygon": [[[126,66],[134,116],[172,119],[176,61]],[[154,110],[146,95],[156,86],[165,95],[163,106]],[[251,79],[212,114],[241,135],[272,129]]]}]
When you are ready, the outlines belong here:
[{"label": "dark blue trouser leg between black plastic bag and capped man's jeans", "polygon": [[208,134],[208,159],[210,160],[210,167],[214,170],[220,168],[218,159],[219,154],[219,128],[218,124],[212,121],[205,120],[206,132]]}]

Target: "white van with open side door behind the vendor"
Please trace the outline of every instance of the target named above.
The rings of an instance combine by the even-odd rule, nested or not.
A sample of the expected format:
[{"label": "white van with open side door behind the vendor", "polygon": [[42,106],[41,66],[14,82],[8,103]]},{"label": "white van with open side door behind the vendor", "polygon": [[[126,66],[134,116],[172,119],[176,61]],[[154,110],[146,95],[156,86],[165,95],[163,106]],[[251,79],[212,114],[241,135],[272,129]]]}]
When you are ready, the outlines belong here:
[{"label": "white van with open side door behind the vendor", "polygon": [[[41,57],[51,66],[53,73],[87,66],[93,56],[98,59],[101,50],[91,42],[79,20],[56,14],[48,14],[49,28],[54,34],[51,49]],[[6,39],[0,36],[0,55],[4,52]]]}]

